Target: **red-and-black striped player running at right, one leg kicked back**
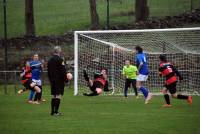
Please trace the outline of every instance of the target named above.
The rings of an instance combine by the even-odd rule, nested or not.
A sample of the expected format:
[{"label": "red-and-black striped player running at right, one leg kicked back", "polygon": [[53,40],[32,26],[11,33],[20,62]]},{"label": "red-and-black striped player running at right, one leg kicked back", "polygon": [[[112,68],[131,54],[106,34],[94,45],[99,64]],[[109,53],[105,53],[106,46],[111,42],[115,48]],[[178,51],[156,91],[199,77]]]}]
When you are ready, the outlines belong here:
[{"label": "red-and-black striped player running at right, one leg kicked back", "polygon": [[183,80],[183,77],[180,75],[179,71],[170,62],[167,61],[165,55],[160,55],[159,59],[160,59],[159,75],[166,77],[164,85],[165,88],[162,90],[166,101],[166,104],[163,105],[163,107],[171,107],[167,91],[170,92],[173,98],[187,100],[189,104],[192,104],[192,96],[181,95],[176,93],[176,84],[178,78],[180,81]]}]

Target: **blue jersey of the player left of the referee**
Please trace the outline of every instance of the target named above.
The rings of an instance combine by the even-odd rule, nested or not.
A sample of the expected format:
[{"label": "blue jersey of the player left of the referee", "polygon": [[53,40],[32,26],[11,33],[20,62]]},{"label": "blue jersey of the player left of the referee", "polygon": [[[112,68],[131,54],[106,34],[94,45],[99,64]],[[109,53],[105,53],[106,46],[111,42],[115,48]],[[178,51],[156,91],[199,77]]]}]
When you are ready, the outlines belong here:
[{"label": "blue jersey of the player left of the referee", "polygon": [[40,61],[30,61],[32,79],[40,80],[42,63]]}]

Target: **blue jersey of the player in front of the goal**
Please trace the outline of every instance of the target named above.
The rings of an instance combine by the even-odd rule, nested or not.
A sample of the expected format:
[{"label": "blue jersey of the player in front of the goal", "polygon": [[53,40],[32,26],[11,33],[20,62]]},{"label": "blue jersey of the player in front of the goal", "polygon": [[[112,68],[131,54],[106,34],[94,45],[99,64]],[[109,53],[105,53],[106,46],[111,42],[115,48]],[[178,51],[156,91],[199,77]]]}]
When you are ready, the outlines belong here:
[{"label": "blue jersey of the player in front of the goal", "polygon": [[146,58],[146,55],[144,53],[136,54],[137,67],[139,67],[141,62],[143,63],[143,65],[138,70],[139,74],[148,75],[149,74],[149,69],[148,69],[148,65],[147,65],[147,58]]}]

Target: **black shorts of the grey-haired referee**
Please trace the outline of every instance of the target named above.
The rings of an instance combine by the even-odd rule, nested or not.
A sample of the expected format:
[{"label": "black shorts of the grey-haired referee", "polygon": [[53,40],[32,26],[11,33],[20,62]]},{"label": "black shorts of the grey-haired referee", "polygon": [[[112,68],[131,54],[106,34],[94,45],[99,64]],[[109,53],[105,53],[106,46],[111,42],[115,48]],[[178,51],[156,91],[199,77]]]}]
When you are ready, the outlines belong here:
[{"label": "black shorts of the grey-haired referee", "polygon": [[64,81],[51,82],[51,95],[63,95],[64,94]]}]

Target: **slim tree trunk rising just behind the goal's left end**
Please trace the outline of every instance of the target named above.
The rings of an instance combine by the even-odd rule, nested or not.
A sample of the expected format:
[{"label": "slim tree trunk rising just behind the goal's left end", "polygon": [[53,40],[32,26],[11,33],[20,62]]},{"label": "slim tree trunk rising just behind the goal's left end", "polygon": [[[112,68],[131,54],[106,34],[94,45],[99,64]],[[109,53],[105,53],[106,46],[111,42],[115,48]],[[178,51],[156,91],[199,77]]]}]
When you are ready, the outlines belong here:
[{"label": "slim tree trunk rising just behind the goal's left end", "polygon": [[89,0],[90,15],[91,15],[91,29],[99,28],[99,16],[96,9],[96,0]]}]

